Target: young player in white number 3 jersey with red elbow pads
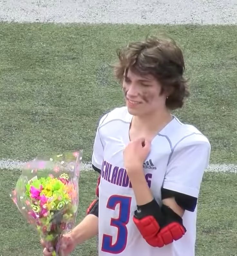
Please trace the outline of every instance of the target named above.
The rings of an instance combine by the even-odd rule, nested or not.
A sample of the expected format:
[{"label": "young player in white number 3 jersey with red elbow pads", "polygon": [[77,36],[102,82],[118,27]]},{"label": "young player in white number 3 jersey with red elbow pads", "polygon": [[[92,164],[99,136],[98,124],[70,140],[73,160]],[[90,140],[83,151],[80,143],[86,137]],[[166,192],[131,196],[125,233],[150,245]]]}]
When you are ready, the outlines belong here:
[{"label": "young player in white number 3 jersey with red elbow pads", "polygon": [[194,256],[210,143],[171,114],[189,95],[182,51],[173,40],[150,37],[118,56],[115,76],[127,106],[100,119],[92,155],[98,199],[64,236],[62,251],[99,233],[99,256]]}]

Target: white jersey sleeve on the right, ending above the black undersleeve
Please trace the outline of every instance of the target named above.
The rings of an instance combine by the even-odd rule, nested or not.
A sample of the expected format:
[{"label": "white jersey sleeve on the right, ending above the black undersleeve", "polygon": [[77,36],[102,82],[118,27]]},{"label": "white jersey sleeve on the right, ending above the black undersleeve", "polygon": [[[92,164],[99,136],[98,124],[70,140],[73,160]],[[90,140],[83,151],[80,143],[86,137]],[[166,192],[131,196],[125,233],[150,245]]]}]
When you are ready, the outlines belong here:
[{"label": "white jersey sleeve on the right, ending above the black undersleeve", "polygon": [[210,151],[210,143],[202,134],[178,142],[167,165],[163,188],[198,198]]}]

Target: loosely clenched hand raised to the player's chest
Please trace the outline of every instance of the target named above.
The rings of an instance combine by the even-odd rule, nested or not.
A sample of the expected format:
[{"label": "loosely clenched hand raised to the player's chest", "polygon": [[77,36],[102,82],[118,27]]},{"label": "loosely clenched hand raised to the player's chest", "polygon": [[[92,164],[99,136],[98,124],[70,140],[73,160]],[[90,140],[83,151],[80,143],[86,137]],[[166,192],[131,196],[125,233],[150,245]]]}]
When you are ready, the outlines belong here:
[{"label": "loosely clenched hand raised to the player's chest", "polygon": [[128,143],[123,152],[124,167],[127,174],[136,173],[137,169],[143,168],[151,148],[150,141],[145,138],[139,138]]}]

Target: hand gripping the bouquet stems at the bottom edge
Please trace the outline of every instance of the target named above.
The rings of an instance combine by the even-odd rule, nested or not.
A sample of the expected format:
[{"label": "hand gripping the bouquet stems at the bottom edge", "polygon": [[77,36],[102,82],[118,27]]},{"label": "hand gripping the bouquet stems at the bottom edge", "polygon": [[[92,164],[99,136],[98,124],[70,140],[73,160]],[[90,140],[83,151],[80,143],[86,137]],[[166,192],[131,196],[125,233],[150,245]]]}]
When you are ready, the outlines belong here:
[{"label": "hand gripping the bouquet stems at the bottom edge", "polygon": [[[44,256],[52,256],[52,251],[54,251],[52,244],[49,244],[43,240],[41,240],[41,245],[43,246],[43,255]],[[60,240],[60,248],[59,251],[62,252],[63,256],[68,256],[70,253],[76,248],[76,243],[73,240],[71,233],[65,234],[62,236]]]}]

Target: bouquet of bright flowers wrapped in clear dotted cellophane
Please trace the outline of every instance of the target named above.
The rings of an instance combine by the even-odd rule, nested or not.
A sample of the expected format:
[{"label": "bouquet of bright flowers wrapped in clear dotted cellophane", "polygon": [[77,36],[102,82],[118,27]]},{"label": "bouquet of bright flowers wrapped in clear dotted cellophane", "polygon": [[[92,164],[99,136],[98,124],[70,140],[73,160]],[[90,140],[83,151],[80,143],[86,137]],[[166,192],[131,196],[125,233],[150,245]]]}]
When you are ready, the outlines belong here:
[{"label": "bouquet of bright flowers wrapped in clear dotted cellophane", "polygon": [[40,238],[53,245],[54,256],[60,255],[60,238],[76,220],[81,159],[79,151],[27,162],[10,195]]}]

